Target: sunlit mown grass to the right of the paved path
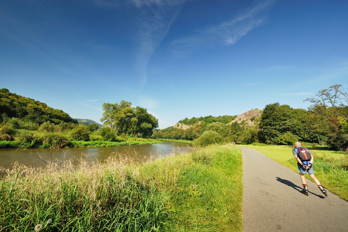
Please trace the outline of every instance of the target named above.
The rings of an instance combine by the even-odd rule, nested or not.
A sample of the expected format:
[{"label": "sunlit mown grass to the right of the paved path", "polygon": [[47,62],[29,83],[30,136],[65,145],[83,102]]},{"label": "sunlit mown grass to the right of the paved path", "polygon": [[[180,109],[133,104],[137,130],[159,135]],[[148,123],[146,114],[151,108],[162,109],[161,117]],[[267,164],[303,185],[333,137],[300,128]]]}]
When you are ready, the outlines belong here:
[{"label": "sunlit mown grass to the right of the paved path", "polygon": [[[240,145],[255,149],[272,160],[298,173],[297,161],[292,155],[293,146]],[[339,151],[324,150],[324,147],[308,147],[314,155],[314,174],[330,192],[348,201],[348,157]],[[306,178],[312,181],[308,174]],[[299,177],[300,182],[300,177]]]}]

